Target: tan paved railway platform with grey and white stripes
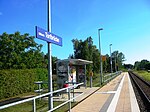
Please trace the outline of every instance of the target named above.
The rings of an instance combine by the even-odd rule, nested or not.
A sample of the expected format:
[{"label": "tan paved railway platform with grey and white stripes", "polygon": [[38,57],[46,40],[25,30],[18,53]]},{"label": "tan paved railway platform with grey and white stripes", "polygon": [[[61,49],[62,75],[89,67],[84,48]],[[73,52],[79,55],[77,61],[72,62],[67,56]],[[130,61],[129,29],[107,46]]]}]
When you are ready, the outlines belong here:
[{"label": "tan paved railway platform with grey and white stripes", "polygon": [[140,112],[127,72],[77,104],[71,112]]}]

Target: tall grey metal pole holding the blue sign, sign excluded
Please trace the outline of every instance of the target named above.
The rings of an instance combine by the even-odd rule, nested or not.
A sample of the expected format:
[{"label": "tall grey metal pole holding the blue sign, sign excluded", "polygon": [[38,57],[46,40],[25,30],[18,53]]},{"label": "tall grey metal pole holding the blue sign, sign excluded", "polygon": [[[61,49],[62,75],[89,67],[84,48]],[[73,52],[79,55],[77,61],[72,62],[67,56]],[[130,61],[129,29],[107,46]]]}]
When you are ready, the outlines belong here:
[{"label": "tall grey metal pole holding the blue sign, sign excluded", "polygon": [[[51,32],[51,0],[47,1],[48,3],[48,11],[47,11],[47,30]],[[48,42],[48,91],[52,92],[52,58],[51,58],[51,43]],[[50,94],[48,97],[48,109],[53,108],[53,95]]]}]

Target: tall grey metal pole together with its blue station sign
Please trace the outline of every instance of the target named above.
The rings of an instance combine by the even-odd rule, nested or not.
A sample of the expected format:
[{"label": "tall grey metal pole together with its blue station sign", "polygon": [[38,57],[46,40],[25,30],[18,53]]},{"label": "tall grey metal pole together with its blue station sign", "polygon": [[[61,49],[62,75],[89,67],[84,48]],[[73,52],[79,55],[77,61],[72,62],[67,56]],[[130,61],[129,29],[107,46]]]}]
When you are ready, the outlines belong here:
[{"label": "tall grey metal pole together with its blue station sign", "polygon": [[[62,38],[51,33],[51,0],[48,0],[47,11],[47,31],[36,26],[36,38],[47,41],[48,43],[48,92],[53,91],[52,87],[52,58],[51,58],[51,43],[62,46]],[[48,97],[48,109],[53,108],[53,95]]]}]

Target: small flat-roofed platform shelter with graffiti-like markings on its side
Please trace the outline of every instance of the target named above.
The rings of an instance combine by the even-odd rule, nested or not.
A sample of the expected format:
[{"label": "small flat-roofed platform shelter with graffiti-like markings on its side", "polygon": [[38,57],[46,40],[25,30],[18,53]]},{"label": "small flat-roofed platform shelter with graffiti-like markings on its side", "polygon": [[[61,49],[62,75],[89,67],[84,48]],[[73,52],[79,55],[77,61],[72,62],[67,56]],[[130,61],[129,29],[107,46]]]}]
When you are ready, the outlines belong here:
[{"label": "small flat-roofed platform shelter with graffiti-like markings on its side", "polygon": [[56,63],[58,88],[81,82],[84,82],[86,87],[86,65],[92,63],[83,59],[58,60]]}]

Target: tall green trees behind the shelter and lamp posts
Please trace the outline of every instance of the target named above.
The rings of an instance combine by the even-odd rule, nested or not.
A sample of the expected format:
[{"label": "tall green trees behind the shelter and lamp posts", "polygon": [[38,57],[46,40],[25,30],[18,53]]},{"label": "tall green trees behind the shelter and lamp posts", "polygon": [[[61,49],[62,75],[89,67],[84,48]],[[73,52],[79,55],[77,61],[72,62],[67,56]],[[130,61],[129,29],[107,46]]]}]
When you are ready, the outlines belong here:
[{"label": "tall green trees behind the shelter and lamp posts", "polygon": [[[81,58],[89,61],[93,61],[93,65],[88,65],[87,70],[95,73],[99,73],[100,70],[100,53],[93,45],[92,37],[88,37],[86,40],[73,39],[74,54],[71,58]],[[104,56],[106,60],[103,60],[103,71],[110,72],[110,56],[106,54]],[[123,67],[123,61],[125,60],[125,55],[122,52],[114,51],[111,54],[112,57],[112,67],[113,71],[120,70]]]}]

